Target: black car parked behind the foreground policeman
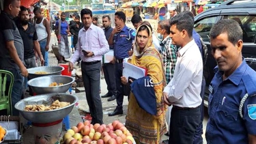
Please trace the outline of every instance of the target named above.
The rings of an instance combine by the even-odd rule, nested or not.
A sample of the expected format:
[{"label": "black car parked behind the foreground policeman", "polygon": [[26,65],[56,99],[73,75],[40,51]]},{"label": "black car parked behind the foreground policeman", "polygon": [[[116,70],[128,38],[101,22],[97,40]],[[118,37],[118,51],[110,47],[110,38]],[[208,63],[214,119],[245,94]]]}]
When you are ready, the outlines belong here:
[{"label": "black car parked behind the foreground policeman", "polygon": [[216,61],[212,56],[212,48],[210,47],[209,33],[214,24],[222,19],[236,20],[242,27],[244,42],[242,55],[248,65],[256,70],[256,1],[225,1],[218,7],[195,16],[195,30],[208,46],[208,58],[203,68],[203,76],[205,76],[206,81],[205,106],[208,106],[208,86],[214,77],[214,68],[216,67]]}]

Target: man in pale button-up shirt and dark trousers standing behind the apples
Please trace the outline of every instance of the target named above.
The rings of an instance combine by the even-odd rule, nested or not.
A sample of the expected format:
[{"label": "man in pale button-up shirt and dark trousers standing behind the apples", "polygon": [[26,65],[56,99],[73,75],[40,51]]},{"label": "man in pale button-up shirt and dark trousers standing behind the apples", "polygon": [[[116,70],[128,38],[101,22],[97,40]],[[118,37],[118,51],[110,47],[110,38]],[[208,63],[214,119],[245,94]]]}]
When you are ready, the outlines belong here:
[{"label": "man in pale button-up shirt and dark trousers standing behind the apples", "polygon": [[92,117],[91,124],[103,124],[100,99],[100,61],[102,55],[109,51],[109,44],[104,36],[104,31],[92,24],[91,10],[87,8],[81,10],[81,19],[84,27],[79,31],[79,40],[69,68],[73,70],[74,63],[81,57],[83,84]]}]

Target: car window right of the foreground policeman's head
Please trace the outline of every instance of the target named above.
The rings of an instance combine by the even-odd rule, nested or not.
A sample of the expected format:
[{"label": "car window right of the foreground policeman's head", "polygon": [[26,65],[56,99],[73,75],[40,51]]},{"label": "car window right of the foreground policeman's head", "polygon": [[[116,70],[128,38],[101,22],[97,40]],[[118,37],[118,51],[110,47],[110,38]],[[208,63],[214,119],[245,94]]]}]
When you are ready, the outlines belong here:
[{"label": "car window right of the foreground policeman's head", "polygon": [[254,42],[256,35],[256,16],[255,15],[229,15],[224,19],[233,19],[242,28],[243,42]]}]

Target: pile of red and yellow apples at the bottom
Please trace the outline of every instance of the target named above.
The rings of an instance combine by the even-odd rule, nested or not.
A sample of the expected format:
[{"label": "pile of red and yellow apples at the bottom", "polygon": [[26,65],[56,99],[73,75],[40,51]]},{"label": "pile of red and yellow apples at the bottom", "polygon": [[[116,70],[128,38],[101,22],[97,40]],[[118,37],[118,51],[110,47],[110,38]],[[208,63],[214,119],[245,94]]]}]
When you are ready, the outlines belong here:
[{"label": "pile of red and yellow apples at the bottom", "polygon": [[111,124],[80,122],[63,135],[63,144],[132,144],[134,139],[120,121]]}]

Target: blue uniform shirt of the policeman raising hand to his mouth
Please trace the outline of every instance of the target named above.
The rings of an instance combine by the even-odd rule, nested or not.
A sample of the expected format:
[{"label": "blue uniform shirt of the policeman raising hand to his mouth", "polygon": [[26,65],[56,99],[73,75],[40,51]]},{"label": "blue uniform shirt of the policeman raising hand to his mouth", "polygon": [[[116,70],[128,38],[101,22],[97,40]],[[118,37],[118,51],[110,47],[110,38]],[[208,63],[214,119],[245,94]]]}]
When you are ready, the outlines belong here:
[{"label": "blue uniform shirt of the policeman raising hand to his mouth", "polygon": [[128,51],[132,48],[132,41],[135,38],[135,31],[129,27],[124,28],[114,35],[114,55],[115,59],[129,57]]}]

